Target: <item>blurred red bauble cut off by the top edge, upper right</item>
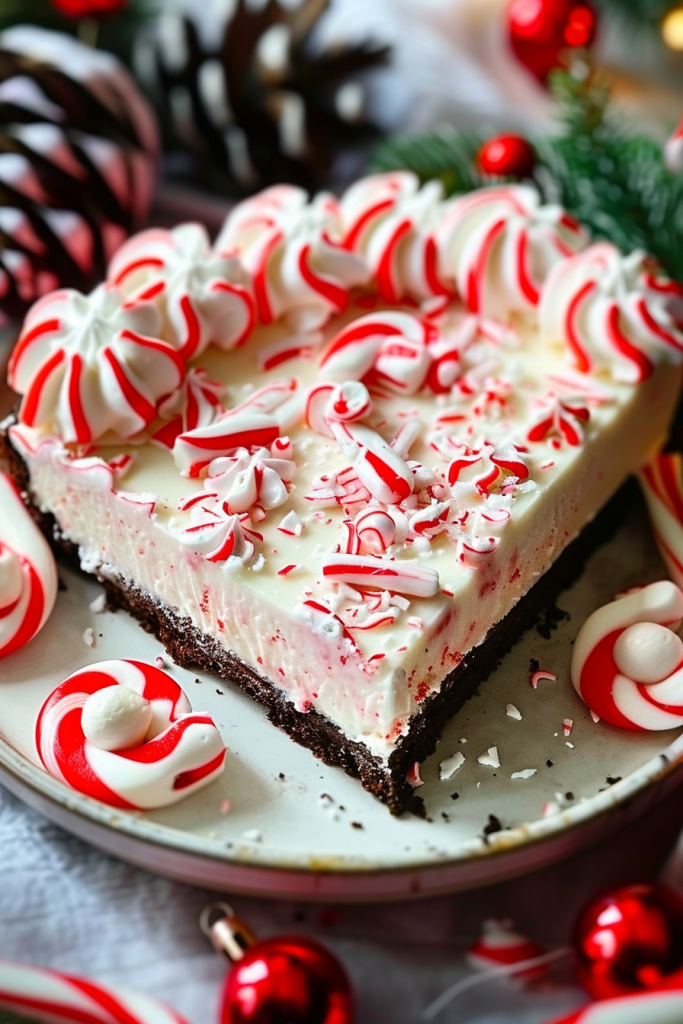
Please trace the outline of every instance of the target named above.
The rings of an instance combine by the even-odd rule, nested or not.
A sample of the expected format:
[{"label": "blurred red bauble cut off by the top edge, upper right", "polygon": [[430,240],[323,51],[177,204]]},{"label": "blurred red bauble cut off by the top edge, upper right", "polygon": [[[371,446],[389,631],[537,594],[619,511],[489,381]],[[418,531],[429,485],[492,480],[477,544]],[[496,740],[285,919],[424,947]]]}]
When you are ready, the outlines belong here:
[{"label": "blurred red bauble cut off by the top edge, upper right", "polygon": [[597,17],[587,0],[512,0],[508,37],[512,51],[540,82],[546,82],[563,53],[590,46]]}]

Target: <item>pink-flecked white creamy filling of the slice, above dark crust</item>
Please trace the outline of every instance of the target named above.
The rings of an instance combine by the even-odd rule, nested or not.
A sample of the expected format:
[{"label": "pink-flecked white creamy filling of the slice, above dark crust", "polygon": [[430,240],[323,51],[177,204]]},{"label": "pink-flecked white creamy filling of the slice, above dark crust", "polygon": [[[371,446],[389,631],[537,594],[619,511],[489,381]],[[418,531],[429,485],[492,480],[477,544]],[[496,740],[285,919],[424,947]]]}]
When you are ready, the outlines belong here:
[{"label": "pink-flecked white creamy filling of the slice, above dark crust", "polygon": [[[353,308],[343,319],[336,317],[326,337],[364,313]],[[454,306],[442,335],[460,330],[462,316]],[[479,339],[471,348],[470,369],[488,359],[488,377],[505,391],[503,399],[493,385],[487,403],[481,398],[485,388],[473,397],[461,395],[455,404],[451,396],[424,392],[374,394],[374,422],[387,439],[412,417],[420,421],[410,457],[435,473],[442,476],[449,468],[434,441],[446,422],[456,424],[461,437],[469,431],[473,446],[482,438],[499,446],[514,441],[525,450],[529,476],[509,500],[499,492],[498,504],[510,516],[503,528],[492,526],[498,543],[489,553],[463,560],[445,532],[390,548],[398,565],[410,561],[435,569],[438,593],[399,598],[384,617],[372,618],[376,609],[364,609],[357,622],[361,627],[379,622],[372,628],[353,625],[354,604],[368,601],[368,591],[323,574],[324,559],[339,549],[348,518],[342,506],[319,508],[310,500],[322,475],[348,466],[334,437],[302,423],[287,431],[296,468],[286,500],[262,521],[252,520],[251,528],[262,538],[252,557],[219,562],[180,540],[191,520],[178,503],[201,492],[203,481],[181,476],[171,452],[151,442],[126,447],[120,441],[84,452],[26,426],[12,427],[11,440],[27,462],[37,504],[53,513],[63,537],[78,545],[85,569],[140,588],[234,652],[298,710],[314,709],[349,739],[388,758],[422,701],[666,435],[680,384],[677,368],[658,366],[637,386],[616,383],[606,373],[583,378],[567,371],[562,346],[542,343],[523,322],[516,329],[496,343]],[[225,385],[227,408],[244,401],[255,381],[261,387],[293,378],[304,388],[322,377],[326,338],[298,339],[300,354],[264,371],[269,353],[288,337],[291,330],[282,324],[259,328],[238,351],[211,348],[196,366]],[[535,410],[545,408],[549,387],[572,395],[569,407],[579,395],[590,411],[581,423],[581,443],[567,443],[556,430],[528,441],[539,421]],[[483,406],[480,401],[475,410],[477,398]],[[121,455],[132,456],[132,462],[119,460]],[[458,486],[465,495],[467,486],[462,481]],[[481,513],[471,486],[462,501],[472,516]],[[388,597],[379,603],[380,610],[387,606]]]}]

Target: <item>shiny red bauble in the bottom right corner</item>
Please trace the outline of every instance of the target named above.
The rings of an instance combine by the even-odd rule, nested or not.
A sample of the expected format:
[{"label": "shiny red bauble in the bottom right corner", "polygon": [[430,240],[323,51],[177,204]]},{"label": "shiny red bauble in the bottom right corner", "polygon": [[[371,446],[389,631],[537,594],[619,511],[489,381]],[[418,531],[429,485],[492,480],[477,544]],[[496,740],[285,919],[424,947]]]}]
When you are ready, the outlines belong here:
[{"label": "shiny red bauble in the bottom right corner", "polygon": [[596,999],[667,987],[683,968],[683,899],[661,885],[598,896],[579,918],[574,945]]}]

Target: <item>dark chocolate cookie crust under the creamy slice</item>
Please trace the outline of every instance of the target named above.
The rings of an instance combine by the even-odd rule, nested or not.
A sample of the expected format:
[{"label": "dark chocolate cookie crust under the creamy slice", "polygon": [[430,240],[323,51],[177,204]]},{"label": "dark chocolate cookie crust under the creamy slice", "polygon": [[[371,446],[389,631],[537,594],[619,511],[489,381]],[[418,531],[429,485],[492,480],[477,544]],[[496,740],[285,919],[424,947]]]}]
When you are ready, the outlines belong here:
[{"label": "dark chocolate cookie crust under the creamy slice", "polygon": [[[11,446],[6,429],[0,430],[0,464],[3,462],[48,541],[72,564],[80,567],[75,546],[61,535],[51,513],[43,513],[31,503],[29,472]],[[476,693],[521,635],[539,622],[552,622],[557,596],[579,579],[586,560],[615,532],[637,500],[635,481],[629,480],[521,601],[492,627],[484,642],[469,651],[446,676],[440,690],[425,698],[412,720],[409,733],[399,740],[388,764],[373,755],[364,743],[349,740],[319,713],[297,711],[282,690],[237,654],[225,650],[213,637],[203,634],[189,618],[102,567],[95,574],[104,586],[111,605],[134,615],[143,629],[164,644],[177,665],[214,672],[227,683],[239,686],[266,709],[273,725],[307,746],[326,764],[343,768],[347,774],[359,778],[362,786],[385,803],[392,814],[410,811],[424,815],[422,799],[407,781],[415,762],[433,753],[445,722]]]}]

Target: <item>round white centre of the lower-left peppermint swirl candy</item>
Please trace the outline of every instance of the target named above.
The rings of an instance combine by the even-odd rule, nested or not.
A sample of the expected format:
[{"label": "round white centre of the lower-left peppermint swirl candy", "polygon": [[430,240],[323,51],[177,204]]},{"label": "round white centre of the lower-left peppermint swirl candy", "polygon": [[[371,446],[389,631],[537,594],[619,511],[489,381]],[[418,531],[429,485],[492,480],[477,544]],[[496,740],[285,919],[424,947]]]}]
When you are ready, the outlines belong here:
[{"label": "round white centre of the lower-left peppermint swirl candy", "polygon": [[106,686],[83,705],[81,728],[101,751],[127,751],[144,740],[152,711],[150,701],[129,686]]}]

